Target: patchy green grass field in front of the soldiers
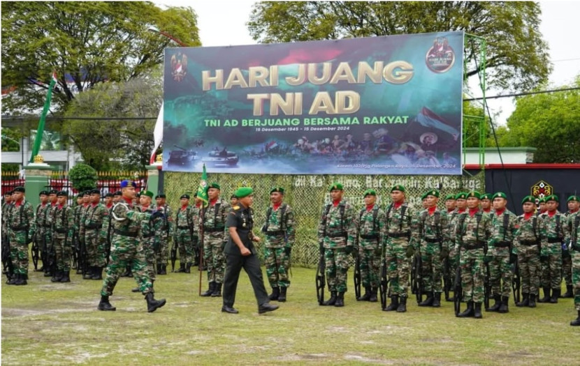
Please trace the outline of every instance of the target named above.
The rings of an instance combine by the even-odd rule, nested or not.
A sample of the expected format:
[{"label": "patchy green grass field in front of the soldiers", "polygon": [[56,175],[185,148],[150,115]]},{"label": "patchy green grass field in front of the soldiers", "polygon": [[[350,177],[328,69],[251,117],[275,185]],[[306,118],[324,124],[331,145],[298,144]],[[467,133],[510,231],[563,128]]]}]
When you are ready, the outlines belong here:
[{"label": "patchy green grass field in front of the soldiers", "polygon": [[52,284],[41,273],[29,275],[28,286],[1,287],[3,365],[578,362],[572,299],[535,309],[515,307],[510,299],[509,314],[484,312],[481,320],[456,318],[452,303],[419,308],[414,298],[407,313],[382,312],[379,303],[357,303],[353,289],[345,307],[321,307],[314,270],[293,268],[289,301],[264,315],[242,273],[235,303],[240,314],[234,315],[220,311],[221,298],[198,296],[194,270],[158,277],[156,297],[168,303],[157,312],[147,313],[143,296],[131,293],[131,278],[120,279],[110,298],[117,311],[100,312],[101,281],[72,275],[70,284]]}]

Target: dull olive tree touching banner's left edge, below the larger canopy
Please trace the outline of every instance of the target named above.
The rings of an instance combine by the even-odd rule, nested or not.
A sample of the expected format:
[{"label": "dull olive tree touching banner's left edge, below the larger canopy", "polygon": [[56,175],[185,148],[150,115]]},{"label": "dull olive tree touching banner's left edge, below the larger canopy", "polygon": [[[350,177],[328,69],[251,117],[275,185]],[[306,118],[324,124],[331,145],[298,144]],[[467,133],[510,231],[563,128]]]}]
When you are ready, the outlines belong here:
[{"label": "dull olive tree touching banner's left edge, below the larger canopy", "polygon": [[66,120],[61,125],[62,133],[75,144],[85,162],[99,171],[113,165],[142,169],[149,163],[155,121],[134,118],[159,114],[162,84],[161,69],[156,68],[128,82],[106,82],[94,86],[68,105],[65,116],[128,119]]}]

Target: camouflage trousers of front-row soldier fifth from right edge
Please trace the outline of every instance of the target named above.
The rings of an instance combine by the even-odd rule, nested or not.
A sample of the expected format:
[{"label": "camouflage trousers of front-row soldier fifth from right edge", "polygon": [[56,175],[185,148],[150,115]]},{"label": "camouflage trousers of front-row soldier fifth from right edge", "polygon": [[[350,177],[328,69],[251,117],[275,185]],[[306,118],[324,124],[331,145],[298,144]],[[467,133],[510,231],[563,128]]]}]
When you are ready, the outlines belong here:
[{"label": "camouflage trousers of front-row soldier fifth from right edge", "polygon": [[484,250],[470,249],[461,250],[459,259],[461,267],[461,287],[463,287],[463,300],[474,303],[484,302]]}]

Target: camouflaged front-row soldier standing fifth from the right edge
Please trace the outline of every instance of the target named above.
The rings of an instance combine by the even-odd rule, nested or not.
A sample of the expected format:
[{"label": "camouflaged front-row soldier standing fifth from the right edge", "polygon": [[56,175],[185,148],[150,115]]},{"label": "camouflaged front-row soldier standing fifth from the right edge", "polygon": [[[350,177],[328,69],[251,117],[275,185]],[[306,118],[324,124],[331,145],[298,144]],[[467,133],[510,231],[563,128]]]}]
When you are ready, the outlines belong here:
[{"label": "camouflaged front-row soldier standing fifth from the right edge", "polygon": [[484,259],[486,245],[490,240],[493,227],[488,215],[479,209],[479,192],[467,193],[468,211],[458,215],[455,243],[460,254],[461,287],[463,300],[467,302],[467,309],[458,314],[458,317],[475,317],[481,319],[481,303],[484,302],[484,263],[491,257]]}]

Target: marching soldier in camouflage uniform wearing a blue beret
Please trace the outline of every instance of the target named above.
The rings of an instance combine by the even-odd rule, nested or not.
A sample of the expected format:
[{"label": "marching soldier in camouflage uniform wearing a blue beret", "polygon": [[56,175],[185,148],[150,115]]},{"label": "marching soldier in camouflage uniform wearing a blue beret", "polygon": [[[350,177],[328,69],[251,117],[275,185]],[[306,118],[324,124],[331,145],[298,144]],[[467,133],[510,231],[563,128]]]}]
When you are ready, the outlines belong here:
[{"label": "marching soldier in camouflage uniform wearing a blue beret", "polygon": [[147,262],[145,260],[145,250],[139,242],[138,231],[141,222],[151,217],[157,218],[163,215],[155,212],[140,213],[134,209],[133,197],[135,196],[136,184],[131,181],[122,181],[122,199],[113,207],[113,239],[111,241],[110,261],[106,268],[106,277],[101,288],[101,301],[97,309],[103,311],[116,310],[109,303],[109,296],[113,294],[115,285],[119,280],[119,275],[126,265],[131,264],[133,278],[137,282],[139,289],[147,301],[147,312],[154,312],[159,307],[165,305],[165,299],[155,300],[153,296],[153,285],[147,273]]}]

